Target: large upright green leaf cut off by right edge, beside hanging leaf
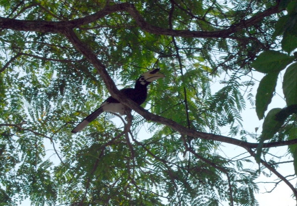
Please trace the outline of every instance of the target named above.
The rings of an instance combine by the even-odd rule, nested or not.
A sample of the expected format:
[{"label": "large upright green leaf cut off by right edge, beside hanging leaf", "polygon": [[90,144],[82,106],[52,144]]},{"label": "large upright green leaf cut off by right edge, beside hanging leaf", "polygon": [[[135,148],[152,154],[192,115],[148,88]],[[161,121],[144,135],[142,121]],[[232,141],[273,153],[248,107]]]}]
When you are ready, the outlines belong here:
[{"label": "large upright green leaf cut off by right edge, beside hanging leaf", "polygon": [[283,91],[287,105],[297,104],[297,63],[292,64],[285,72]]}]

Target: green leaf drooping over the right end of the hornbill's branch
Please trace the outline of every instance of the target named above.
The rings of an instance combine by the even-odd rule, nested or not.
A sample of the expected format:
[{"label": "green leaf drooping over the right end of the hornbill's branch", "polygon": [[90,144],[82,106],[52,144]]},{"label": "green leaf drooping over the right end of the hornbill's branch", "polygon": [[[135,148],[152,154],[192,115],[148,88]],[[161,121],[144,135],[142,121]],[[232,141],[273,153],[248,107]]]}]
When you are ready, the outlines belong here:
[{"label": "green leaf drooping over the right end of the hornbill's branch", "polygon": [[282,109],[281,108],[273,108],[271,109],[266,118],[264,119],[263,126],[262,126],[262,135],[259,139],[259,144],[257,146],[257,152],[255,156],[256,162],[260,163],[261,152],[263,143],[265,140],[271,139],[282,127],[284,121],[277,121],[275,119],[275,115],[279,113]]}]

